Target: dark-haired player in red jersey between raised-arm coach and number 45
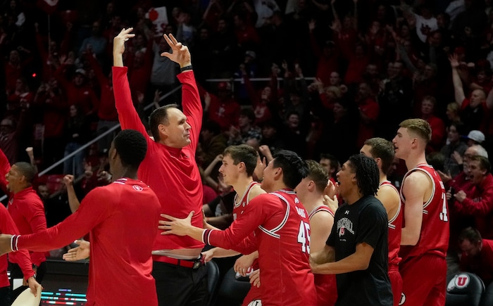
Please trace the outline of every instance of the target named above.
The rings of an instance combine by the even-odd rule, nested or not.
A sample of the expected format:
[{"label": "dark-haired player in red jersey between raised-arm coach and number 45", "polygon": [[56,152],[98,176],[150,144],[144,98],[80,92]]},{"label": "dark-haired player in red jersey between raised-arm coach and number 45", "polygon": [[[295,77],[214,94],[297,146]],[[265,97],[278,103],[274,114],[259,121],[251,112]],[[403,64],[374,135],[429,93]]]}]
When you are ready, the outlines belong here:
[{"label": "dark-haired player in red jersey between raised-arm coach and number 45", "polygon": [[[223,175],[224,184],[233,186],[237,192],[235,196],[235,206],[233,208],[233,219],[238,219],[243,216],[246,207],[250,200],[258,195],[266,193],[261,189],[261,184],[253,179],[254,170],[257,165],[258,153],[251,146],[240,144],[238,146],[229,146],[223,153],[223,165],[220,166],[219,172]],[[254,233],[249,236],[255,240]],[[204,260],[208,262],[214,257],[230,257],[241,254],[235,250],[225,250],[223,248],[211,248],[203,253]],[[251,270],[258,269],[256,258],[258,252],[239,257],[235,263],[235,271],[239,274],[246,275]],[[245,265],[239,262],[248,262]],[[242,268],[237,268],[242,266]],[[251,286],[248,295],[244,299],[244,305],[248,305],[252,300],[260,300],[261,293],[257,286]]]}]

